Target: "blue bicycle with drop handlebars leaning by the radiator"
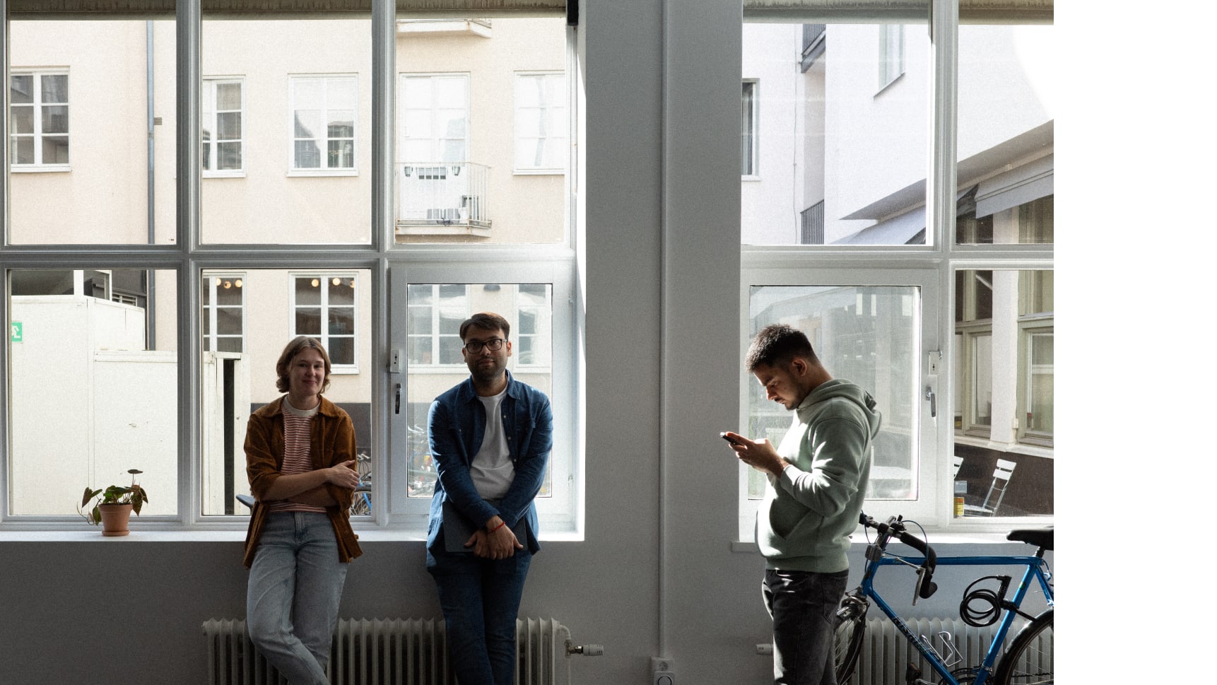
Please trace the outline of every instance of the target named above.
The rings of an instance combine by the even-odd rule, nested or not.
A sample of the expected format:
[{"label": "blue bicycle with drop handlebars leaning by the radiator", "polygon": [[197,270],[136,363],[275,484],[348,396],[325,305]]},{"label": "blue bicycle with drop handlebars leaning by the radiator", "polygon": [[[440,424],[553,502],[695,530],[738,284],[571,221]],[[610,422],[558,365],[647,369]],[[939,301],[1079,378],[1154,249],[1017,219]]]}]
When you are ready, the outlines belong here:
[{"label": "blue bicycle with drop handlebars leaning by the radiator", "polygon": [[[863,569],[862,584],[848,591],[841,600],[841,607],[836,614],[836,674],[837,683],[845,685],[853,675],[858,657],[862,653],[863,639],[867,631],[867,611],[870,602],[887,616],[896,625],[901,635],[908,640],[930,667],[938,674],[937,685],[1044,685],[1053,683],[1053,661],[1050,651],[1044,651],[1043,641],[1051,641],[1053,636],[1053,586],[1051,572],[1044,560],[1044,552],[1053,549],[1053,529],[1025,529],[1013,530],[1006,535],[1008,540],[1027,543],[1034,545],[1034,556],[954,556],[940,557],[921,538],[909,533],[905,522],[899,516],[893,516],[886,523],[879,523],[865,513],[860,515],[859,522],[865,528],[877,530],[874,543],[867,545],[867,563]],[[924,532],[922,532],[924,537]],[[887,545],[892,540],[913,548],[921,552],[921,557],[905,557],[887,551]],[[909,625],[901,619],[884,597],[875,590],[874,579],[880,568],[885,566],[909,566],[916,567],[916,585],[914,588],[913,603],[916,599],[929,599],[937,590],[933,582],[933,571],[938,566],[1022,566],[1022,579],[1014,593],[1014,597],[1005,599],[1009,588],[1009,575],[989,575],[980,578],[968,586],[964,600],[960,605],[960,618],[965,623],[975,627],[988,627],[998,623],[993,641],[989,644],[980,666],[957,666],[960,655],[949,639],[944,639],[948,653],[940,655],[925,636],[918,636]],[[987,588],[972,590],[972,588],[988,579],[996,579],[1000,588],[993,591]],[[1020,611],[1027,591],[1033,583],[1038,583],[1044,593],[1048,608],[1038,616],[1030,616]],[[980,606],[981,608],[977,608]],[[1017,631],[1008,650],[1002,651],[1006,635],[1017,617],[1027,619],[1027,623]],[[949,638],[949,634],[947,635]],[[1050,647],[1049,647],[1050,650]],[[1000,657],[1000,661],[998,659]],[[954,659],[953,663],[947,663]],[[909,685],[927,684],[930,680],[921,679],[921,669],[909,663],[904,681]]]}]

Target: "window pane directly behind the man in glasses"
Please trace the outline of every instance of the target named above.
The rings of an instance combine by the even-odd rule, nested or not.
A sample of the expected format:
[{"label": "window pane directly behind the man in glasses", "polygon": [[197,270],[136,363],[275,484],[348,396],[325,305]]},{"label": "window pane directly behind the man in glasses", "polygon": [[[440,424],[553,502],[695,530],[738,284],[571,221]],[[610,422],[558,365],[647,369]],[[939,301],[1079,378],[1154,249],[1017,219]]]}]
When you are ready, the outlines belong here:
[{"label": "window pane directly behind the man in glasses", "polygon": [[[518,286],[514,283],[411,283],[408,287],[408,307],[411,309],[411,329],[408,331],[411,347],[405,383],[406,420],[409,421],[411,433],[409,440],[410,456],[408,459],[409,496],[430,498],[433,492],[436,481],[434,465],[431,462],[431,455],[427,454],[426,447],[427,411],[436,397],[469,378],[469,367],[465,365],[460,352],[461,341],[459,330],[460,324],[470,314],[475,311],[494,311],[504,316],[511,326],[509,339],[512,342],[512,353],[507,358],[507,370],[516,380],[533,386],[546,395],[553,395],[553,369],[537,365],[521,369],[521,366],[528,363],[521,359],[520,346],[517,344],[521,342],[518,337],[521,329],[520,314],[517,311],[517,303],[521,301],[520,291],[546,293],[544,304],[535,304],[534,301],[529,301],[532,303],[531,307],[534,308],[531,310],[531,315],[539,320],[535,325],[537,327],[550,331],[554,314],[548,305],[548,292],[551,287],[550,283],[521,283]],[[443,299],[448,309],[436,314],[441,321],[436,329],[439,333],[434,336],[421,335],[413,327],[413,321],[421,319],[421,313],[432,308],[437,301],[437,293],[441,292],[448,294]],[[454,303],[459,303],[460,308],[453,307]],[[538,338],[534,337],[533,339]],[[432,346],[441,349],[439,365],[430,360],[428,352],[432,349]],[[443,364],[453,366],[443,367]],[[539,496],[550,496],[551,492],[550,471],[546,467],[545,482],[542,485]]]}]

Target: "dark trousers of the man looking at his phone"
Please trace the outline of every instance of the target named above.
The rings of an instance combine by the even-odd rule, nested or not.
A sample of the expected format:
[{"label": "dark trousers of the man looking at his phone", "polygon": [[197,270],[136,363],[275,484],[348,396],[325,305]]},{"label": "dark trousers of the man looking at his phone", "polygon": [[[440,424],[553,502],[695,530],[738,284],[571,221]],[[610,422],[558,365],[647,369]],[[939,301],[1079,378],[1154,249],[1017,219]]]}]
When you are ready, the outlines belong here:
[{"label": "dark trousers of the man looking at his phone", "polygon": [[776,685],[836,685],[834,616],[848,578],[848,571],[765,569],[761,591],[773,618]]}]

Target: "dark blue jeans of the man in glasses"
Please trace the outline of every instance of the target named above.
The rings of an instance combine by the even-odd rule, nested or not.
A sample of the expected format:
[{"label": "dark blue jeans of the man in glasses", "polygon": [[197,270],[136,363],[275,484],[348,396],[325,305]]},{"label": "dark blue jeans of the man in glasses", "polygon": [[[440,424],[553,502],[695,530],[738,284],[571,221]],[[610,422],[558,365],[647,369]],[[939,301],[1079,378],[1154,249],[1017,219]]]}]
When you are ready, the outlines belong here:
[{"label": "dark blue jeans of the man in glasses", "polygon": [[532,554],[516,550],[489,560],[444,550],[443,533],[427,550],[448,633],[449,663],[461,685],[512,685],[516,676],[516,614]]}]

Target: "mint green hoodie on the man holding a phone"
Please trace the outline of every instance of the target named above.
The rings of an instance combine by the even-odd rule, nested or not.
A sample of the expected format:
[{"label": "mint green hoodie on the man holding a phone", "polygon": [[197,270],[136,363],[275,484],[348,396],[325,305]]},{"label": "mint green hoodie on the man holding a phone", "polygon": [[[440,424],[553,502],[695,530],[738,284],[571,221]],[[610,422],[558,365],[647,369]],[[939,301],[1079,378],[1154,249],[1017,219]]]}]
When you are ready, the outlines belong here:
[{"label": "mint green hoodie on the man holding a phone", "polygon": [[821,383],[795,414],[778,447],[791,466],[780,478],[769,476],[757,510],[757,545],[767,568],[845,571],[882,417],[875,398],[841,380]]}]

